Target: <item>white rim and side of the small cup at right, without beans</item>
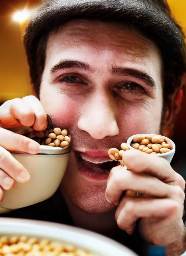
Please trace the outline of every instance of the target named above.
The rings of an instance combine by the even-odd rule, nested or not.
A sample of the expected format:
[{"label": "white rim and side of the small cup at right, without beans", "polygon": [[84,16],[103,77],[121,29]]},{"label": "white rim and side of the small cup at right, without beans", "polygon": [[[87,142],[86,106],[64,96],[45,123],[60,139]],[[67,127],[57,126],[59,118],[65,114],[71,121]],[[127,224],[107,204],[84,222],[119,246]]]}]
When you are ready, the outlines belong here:
[{"label": "white rim and side of the small cup at right, without beans", "polygon": [[133,147],[131,147],[130,144],[133,141],[133,139],[135,137],[137,137],[137,136],[158,136],[158,137],[166,139],[167,143],[169,143],[173,147],[173,149],[171,151],[167,152],[167,153],[157,154],[157,156],[163,157],[163,158],[165,158],[169,162],[169,164],[171,163],[171,161],[173,159],[173,156],[175,154],[175,149],[176,149],[175,144],[174,144],[174,142],[171,139],[169,139],[169,138],[167,138],[165,136],[162,136],[162,135],[158,135],[158,134],[147,134],[147,133],[145,133],[145,134],[136,134],[136,135],[133,135],[133,136],[129,137],[129,139],[126,142],[126,144],[128,145],[128,147],[130,149],[134,149]]}]

